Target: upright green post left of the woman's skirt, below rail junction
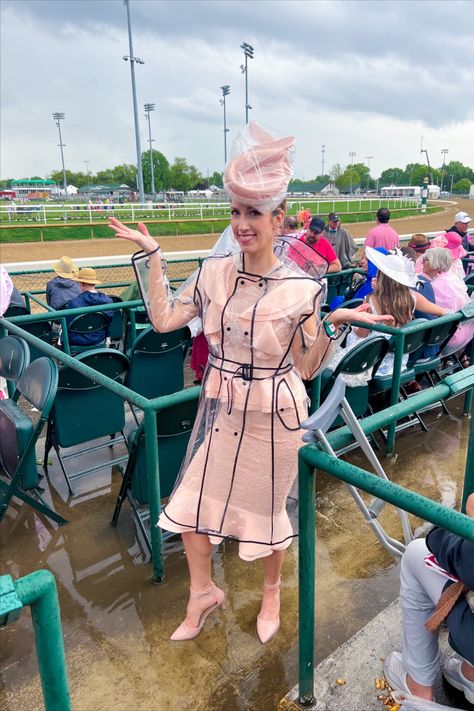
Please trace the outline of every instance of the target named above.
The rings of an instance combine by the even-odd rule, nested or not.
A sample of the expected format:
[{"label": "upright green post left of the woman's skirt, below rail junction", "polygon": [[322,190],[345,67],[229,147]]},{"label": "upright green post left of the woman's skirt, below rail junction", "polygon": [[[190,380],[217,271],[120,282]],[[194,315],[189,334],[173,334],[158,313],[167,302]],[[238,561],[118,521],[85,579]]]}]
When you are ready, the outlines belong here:
[{"label": "upright green post left of the woman's skirt, below rail junction", "polygon": [[156,412],[145,410],[146,468],[148,472],[148,497],[150,501],[150,538],[153,582],[162,583],[165,579],[163,564],[163,538],[161,528],[156,525],[160,515],[160,467],[158,463],[158,433]]}]

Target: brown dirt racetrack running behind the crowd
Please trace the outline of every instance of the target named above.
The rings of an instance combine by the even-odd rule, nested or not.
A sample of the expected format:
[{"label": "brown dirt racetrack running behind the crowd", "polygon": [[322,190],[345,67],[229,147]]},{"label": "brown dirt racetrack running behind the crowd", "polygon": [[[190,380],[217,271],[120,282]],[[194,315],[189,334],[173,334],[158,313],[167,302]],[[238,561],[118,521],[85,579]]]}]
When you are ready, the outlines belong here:
[{"label": "brown dirt racetrack running behind the crowd", "polygon": [[[458,202],[434,201],[437,206],[444,205],[445,209],[441,213],[434,215],[414,215],[391,221],[391,225],[399,234],[413,232],[435,232],[450,227],[454,222],[454,215],[459,210],[469,213],[474,209],[472,200],[459,200]],[[353,237],[364,237],[367,231],[374,226],[374,222],[359,222],[355,224],[344,223]],[[0,233],[1,239],[1,233]],[[199,235],[188,237],[162,237],[160,244],[164,252],[187,251],[194,249],[210,249],[216,240],[215,235]],[[79,257],[100,257],[112,256],[116,254],[132,254],[133,245],[123,240],[111,237],[110,239],[90,239],[90,240],[65,240],[58,242],[41,242],[34,244],[2,244],[0,261],[25,262],[36,260],[56,260],[63,254],[74,258]]]}]

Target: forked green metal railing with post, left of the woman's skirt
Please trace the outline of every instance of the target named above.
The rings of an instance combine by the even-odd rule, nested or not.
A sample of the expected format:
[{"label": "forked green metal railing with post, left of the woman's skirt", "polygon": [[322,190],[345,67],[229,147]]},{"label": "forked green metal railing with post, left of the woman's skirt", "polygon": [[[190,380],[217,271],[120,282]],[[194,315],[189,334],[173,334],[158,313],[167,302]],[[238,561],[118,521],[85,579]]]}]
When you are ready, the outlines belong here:
[{"label": "forked green metal railing with post, left of the woman's skirt", "polygon": [[[134,303],[134,302],[131,302]],[[122,306],[122,304],[116,304],[117,306]],[[107,306],[112,307],[114,304],[107,304]],[[98,310],[96,307],[89,307],[89,311]],[[80,311],[80,309],[70,309],[72,311]],[[67,313],[66,311],[61,313]],[[39,315],[41,318],[41,315]],[[27,316],[18,316],[16,320],[32,318]],[[50,358],[55,358],[60,363],[64,363],[68,367],[76,370],[81,375],[84,375],[89,380],[92,380],[99,385],[107,388],[111,392],[115,393],[123,400],[132,403],[140,410],[143,410],[144,420],[145,420],[145,451],[146,451],[146,463],[148,476],[148,495],[150,502],[150,520],[152,522],[158,520],[160,514],[160,477],[159,477],[159,460],[158,460],[158,435],[156,427],[156,413],[161,410],[165,410],[173,405],[178,405],[189,400],[195,400],[199,397],[200,387],[186,388],[180,392],[173,393],[172,395],[164,395],[162,397],[153,398],[148,400],[147,398],[138,395],[133,390],[126,388],[124,385],[111,380],[107,376],[99,373],[93,368],[81,363],[67,353],[59,351],[54,346],[50,346],[48,343],[32,336],[21,329],[16,324],[11,321],[0,318],[0,337],[3,331],[9,331],[15,336],[23,338],[28,344],[35,346],[38,350],[43,351],[46,356]],[[156,476],[152,473],[156,472]],[[151,557],[152,557],[152,567],[153,567],[153,580],[154,582],[163,582],[164,580],[164,563],[163,563],[163,552],[162,552],[162,535],[161,529],[158,526],[150,526],[150,539],[151,539]]]}]

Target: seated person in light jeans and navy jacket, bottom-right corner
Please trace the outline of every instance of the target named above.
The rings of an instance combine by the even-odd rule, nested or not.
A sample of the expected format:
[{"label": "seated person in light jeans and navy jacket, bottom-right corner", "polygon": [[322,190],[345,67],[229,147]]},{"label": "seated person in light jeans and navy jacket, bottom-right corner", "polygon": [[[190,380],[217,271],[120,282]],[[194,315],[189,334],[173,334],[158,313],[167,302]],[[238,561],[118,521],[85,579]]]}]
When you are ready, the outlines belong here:
[{"label": "seated person in light jeans and navy jacket, bottom-right corner", "polygon": [[[474,518],[474,493],[466,514]],[[438,629],[446,622],[456,649],[442,657],[446,681],[474,704],[474,543],[435,527],[408,544],[400,572],[403,651],[390,652],[385,677],[390,686],[433,699],[438,672]]]}]

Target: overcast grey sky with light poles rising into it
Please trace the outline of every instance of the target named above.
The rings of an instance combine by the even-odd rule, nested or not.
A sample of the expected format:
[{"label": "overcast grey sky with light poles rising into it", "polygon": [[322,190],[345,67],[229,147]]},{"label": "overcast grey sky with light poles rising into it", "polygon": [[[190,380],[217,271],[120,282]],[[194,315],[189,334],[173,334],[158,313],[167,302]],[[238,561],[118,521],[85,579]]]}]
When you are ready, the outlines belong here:
[{"label": "overcast grey sky with light poles rising into it", "polygon": [[[1,177],[136,161],[126,9],[122,0],[2,0]],[[245,122],[240,44],[249,60],[251,118],[297,138],[295,174],[374,156],[372,174],[420,161],[474,166],[474,12],[428,0],[130,0],[142,150],[143,104],[154,147],[203,175],[222,170]]]}]

